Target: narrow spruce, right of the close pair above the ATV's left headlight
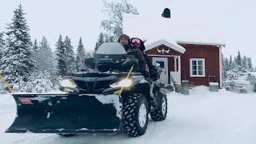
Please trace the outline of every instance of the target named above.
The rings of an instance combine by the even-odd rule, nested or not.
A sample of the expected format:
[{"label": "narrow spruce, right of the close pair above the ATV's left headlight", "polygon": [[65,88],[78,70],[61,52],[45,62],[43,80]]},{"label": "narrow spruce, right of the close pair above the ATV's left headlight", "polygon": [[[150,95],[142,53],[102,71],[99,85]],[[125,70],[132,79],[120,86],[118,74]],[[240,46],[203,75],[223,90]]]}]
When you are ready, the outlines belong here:
[{"label": "narrow spruce, right of the close pair above the ATV's left headlight", "polygon": [[66,72],[68,75],[75,71],[74,47],[71,45],[71,40],[66,36],[64,41]]}]

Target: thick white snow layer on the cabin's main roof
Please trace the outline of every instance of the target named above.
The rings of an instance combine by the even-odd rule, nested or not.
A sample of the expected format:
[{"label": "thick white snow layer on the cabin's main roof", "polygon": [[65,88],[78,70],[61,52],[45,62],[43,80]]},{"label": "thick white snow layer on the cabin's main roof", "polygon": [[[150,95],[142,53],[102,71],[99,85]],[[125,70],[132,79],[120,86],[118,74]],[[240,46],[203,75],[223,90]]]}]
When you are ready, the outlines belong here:
[{"label": "thick white snow layer on the cabin's main roof", "polygon": [[123,33],[130,38],[172,39],[174,42],[213,46],[226,46],[221,31],[200,20],[153,18],[139,14],[123,15]]}]

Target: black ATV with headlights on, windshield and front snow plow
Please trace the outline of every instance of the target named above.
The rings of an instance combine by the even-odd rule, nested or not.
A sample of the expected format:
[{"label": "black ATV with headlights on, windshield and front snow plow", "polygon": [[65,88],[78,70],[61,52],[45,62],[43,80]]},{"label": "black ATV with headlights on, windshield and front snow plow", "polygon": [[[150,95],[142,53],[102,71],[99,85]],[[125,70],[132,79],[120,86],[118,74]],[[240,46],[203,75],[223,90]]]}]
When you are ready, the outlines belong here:
[{"label": "black ATV with headlights on, windshield and front snow plow", "polygon": [[[87,58],[93,72],[81,71],[60,80],[59,94],[12,94],[17,116],[6,133],[85,133],[131,137],[145,134],[149,114],[153,121],[166,119],[164,84],[150,82],[137,72],[138,60],[115,42],[102,44]],[[152,95],[154,94],[154,95]]]}]

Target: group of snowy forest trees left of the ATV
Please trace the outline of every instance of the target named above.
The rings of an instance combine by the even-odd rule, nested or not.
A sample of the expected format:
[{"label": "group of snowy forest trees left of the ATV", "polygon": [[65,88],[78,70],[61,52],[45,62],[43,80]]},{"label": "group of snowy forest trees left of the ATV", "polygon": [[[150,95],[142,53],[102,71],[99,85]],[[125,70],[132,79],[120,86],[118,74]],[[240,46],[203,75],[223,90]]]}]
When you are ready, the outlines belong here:
[{"label": "group of snowy forest trees left of the ATV", "polygon": [[19,5],[6,31],[0,29],[0,94],[7,92],[4,83],[19,92],[54,90],[58,87],[58,78],[86,69],[83,61],[90,55],[82,38],[78,40],[76,52],[68,36],[59,36],[55,51],[46,37],[32,42],[25,13]]}]

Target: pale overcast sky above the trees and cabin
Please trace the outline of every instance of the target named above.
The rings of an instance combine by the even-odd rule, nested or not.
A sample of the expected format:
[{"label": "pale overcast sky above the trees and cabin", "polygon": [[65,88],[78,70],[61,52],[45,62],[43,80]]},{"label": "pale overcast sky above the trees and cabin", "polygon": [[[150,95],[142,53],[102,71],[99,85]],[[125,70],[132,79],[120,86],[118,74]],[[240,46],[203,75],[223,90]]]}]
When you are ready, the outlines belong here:
[{"label": "pale overcast sky above the trees and cabin", "polygon": [[[128,0],[129,1],[129,0]],[[93,49],[102,21],[102,0],[0,0],[0,27],[13,17],[13,10],[22,2],[31,37],[46,36],[54,49],[58,35],[68,35],[74,47],[81,36],[86,48]],[[173,18],[207,21],[218,27],[225,38],[228,56],[238,50],[253,58],[256,65],[256,2],[254,0],[130,0],[139,14],[158,16],[169,7]]]}]

